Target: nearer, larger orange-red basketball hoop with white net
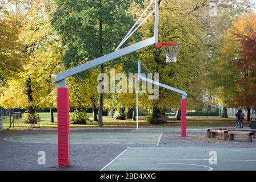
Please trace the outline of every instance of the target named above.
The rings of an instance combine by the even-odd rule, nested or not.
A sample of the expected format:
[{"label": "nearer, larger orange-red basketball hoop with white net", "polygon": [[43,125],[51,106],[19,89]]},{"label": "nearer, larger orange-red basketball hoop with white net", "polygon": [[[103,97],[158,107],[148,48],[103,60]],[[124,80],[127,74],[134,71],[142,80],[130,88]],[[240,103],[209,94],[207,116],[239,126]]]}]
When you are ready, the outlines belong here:
[{"label": "nearer, larger orange-red basketball hoop with white net", "polygon": [[155,48],[165,49],[166,53],[166,63],[176,63],[177,62],[177,55],[179,50],[182,47],[181,42],[159,42],[156,44]]}]

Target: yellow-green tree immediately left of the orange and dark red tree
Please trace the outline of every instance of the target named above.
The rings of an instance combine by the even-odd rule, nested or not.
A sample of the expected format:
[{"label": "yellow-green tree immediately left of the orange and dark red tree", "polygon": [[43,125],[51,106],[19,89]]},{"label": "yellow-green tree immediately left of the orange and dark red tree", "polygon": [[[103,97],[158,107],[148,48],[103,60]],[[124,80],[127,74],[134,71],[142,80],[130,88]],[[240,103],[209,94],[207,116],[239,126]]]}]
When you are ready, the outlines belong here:
[{"label": "yellow-green tree immediately left of the orange and dark red tree", "polygon": [[217,16],[204,16],[203,24],[207,31],[208,42],[206,59],[206,81],[203,93],[207,97],[208,104],[223,106],[222,117],[227,116],[227,108],[231,101],[232,82],[235,69],[229,61],[236,56],[237,46],[234,44],[227,31],[232,26],[234,19],[247,11],[253,5],[249,0],[219,1],[217,4]]}]

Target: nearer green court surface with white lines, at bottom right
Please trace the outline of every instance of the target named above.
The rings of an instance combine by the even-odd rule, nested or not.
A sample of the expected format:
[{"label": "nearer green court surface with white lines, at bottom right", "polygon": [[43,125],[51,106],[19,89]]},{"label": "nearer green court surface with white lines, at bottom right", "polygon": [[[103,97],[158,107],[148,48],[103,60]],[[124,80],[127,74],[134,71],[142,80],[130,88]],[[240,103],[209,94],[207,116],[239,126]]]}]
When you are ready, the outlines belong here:
[{"label": "nearer green court surface with white lines, at bottom right", "polygon": [[[210,164],[210,151],[216,152],[217,164]],[[128,147],[101,170],[248,171],[256,169],[255,155],[255,148]]]}]

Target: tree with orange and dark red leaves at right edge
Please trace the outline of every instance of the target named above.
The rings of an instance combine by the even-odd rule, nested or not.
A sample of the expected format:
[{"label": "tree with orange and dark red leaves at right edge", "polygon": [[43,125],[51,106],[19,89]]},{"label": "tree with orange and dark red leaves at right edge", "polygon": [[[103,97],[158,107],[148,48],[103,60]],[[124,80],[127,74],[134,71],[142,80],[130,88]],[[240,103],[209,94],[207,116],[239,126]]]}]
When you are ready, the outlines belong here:
[{"label": "tree with orange and dark red leaves at right edge", "polygon": [[236,69],[235,93],[231,106],[245,107],[247,121],[250,110],[256,106],[256,15],[253,11],[240,16],[233,23],[230,32],[234,43],[238,44],[238,56],[231,60]]}]

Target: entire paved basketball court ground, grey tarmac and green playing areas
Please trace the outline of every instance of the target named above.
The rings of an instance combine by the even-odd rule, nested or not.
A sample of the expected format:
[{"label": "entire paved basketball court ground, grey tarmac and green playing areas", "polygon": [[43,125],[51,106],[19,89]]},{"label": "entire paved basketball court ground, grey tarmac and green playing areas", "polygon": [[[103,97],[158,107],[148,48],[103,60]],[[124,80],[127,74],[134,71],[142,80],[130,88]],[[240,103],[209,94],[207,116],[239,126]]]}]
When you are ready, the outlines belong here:
[{"label": "entire paved basketball court ground, grey tarmac and green playing areas", "polygon": [[[0,169],[256,170],[254,140],[200,140],[206,136],[205,127],[189,127],[187,137],[183,138],[179,135],[180,130],[178,127],[73,129],[70,133],[70,158],[74,162],[67,168],[55,166],[56,130],[0,133]],[[46,152],[46,165],[42,166],[37,164],[37,152],[41,150]],[[217,164],[209,162],[211,151],[217,154]]]}]

